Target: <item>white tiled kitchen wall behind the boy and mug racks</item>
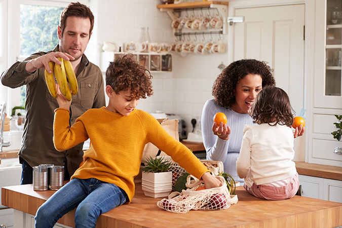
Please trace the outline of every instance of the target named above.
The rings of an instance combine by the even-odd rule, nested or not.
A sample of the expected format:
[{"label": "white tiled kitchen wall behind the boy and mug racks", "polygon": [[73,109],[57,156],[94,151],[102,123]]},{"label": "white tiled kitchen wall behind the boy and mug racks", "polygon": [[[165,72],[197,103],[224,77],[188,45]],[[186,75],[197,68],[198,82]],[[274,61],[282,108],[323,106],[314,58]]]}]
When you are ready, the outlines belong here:
[{"label": "white tiled kitchen wall behind the boy and mug racks", "polygon": [[[97,34],[91,42],[97,43],[97,50],[89,49],[89,46],[94,46],[90,44],[86,54],[98,65],[103,42],[138,41],[141,27],[148,26],[151,42],[172,43],[175,40],[171,19],[167,13],[157,9],[159,0],[97,0],[90,1],[90,4],[95,12],[93,34]],[[213,40],[218,38],[216,34],[212,36]],[[226,35],[223,36],[226,44],[225,39]],[[227,59],[227,52],[201,56],[189,54],[185,57],[173,53],[173,71],[152,73],[154,95],[140,100],[137,108],[181,115],[188,130],[192,130],[191,119],[199,121],[205,101],[212,98],[211,87],[220,73],[217,66],[221,62],[229,64]]]}]

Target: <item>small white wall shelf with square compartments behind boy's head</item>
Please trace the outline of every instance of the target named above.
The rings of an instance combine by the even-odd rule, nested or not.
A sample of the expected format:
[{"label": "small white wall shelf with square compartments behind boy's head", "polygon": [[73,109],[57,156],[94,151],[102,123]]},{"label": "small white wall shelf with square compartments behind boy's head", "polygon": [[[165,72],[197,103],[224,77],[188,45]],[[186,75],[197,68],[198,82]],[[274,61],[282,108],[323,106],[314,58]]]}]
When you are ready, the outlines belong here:
[{"label": "small white wall shelf with square compartments behind boy's head", "polygon": [[[109,62],[116,57],[126,55],[127,52],[101,52],[101,71],[105,72]],[[133,52],[135,60],[150,72],[172,72],[172,54]]]}]

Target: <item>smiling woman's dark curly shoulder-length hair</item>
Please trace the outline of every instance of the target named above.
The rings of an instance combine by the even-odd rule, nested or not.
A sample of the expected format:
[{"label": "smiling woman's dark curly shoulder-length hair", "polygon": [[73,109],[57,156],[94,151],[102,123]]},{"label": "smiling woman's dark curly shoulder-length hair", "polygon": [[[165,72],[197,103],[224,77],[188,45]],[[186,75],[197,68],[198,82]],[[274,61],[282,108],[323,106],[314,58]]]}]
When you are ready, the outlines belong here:
[{"label": "smiling woman's dark curly shoulder-length hair", "polygon": [[215,102],[225,108],[230,108],[235,103],[236,85],[247,74],[258,74],[262,79],[262,87],[275,86],[276,81],[272,75],[273,69],[267,62],[255,59],[241,59],[229,64],[218,75],[212,87],[212,95]]}]

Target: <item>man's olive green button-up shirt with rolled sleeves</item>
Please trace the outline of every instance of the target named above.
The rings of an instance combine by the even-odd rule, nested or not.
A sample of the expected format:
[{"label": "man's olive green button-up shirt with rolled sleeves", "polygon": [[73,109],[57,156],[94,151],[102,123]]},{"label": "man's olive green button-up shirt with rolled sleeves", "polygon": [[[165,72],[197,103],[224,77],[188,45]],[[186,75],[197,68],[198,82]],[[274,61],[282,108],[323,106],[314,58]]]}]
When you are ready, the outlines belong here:
[{"label": "man's olive green button-up shirt with rolled sleeves", "polygon": [[[59,107],[51,96],[45,83],[45,68],[29,73],[26,63],[50,52],[58,52],[57,45],[49,52],[37,52],[24,61],[17,61],[1,75],[4,86],[11,88],[26,85],[26,121],[19,156],[31,167],[40,164],[65,165],[70,176],[79,168],[83,156],[83,143],[65,151],[58,151],[53,144],[54,110]],[[70,126],[86,110],[105,106],[102,72],[98,66],[89,62],[85,55],[76,73],[79,92],[72,96],[70,106]]]}]

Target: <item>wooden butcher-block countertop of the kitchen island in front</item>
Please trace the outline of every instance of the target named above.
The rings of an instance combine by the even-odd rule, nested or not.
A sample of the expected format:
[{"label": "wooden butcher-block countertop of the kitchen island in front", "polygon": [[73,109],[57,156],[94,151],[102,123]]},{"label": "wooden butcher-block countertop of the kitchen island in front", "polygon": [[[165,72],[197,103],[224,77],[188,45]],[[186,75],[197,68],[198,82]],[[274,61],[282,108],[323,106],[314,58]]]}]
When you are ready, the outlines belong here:
[{"label": "wooden butcher-block countertop of the kitchen island in front", "polygon": [[[31,184],[2,188],[5,206],[34,215],[55,191],[35,192]],[[96,227],[335,227],[342,225],[342,204],[294,196],[283,201],[255,198],[237,187],[239,202],[226,210],[177,214],[157,207],[162,198],[145,197],[141,184],[130,204],[100,215]],[[75,209],[58,222],[74,227]]]}]

